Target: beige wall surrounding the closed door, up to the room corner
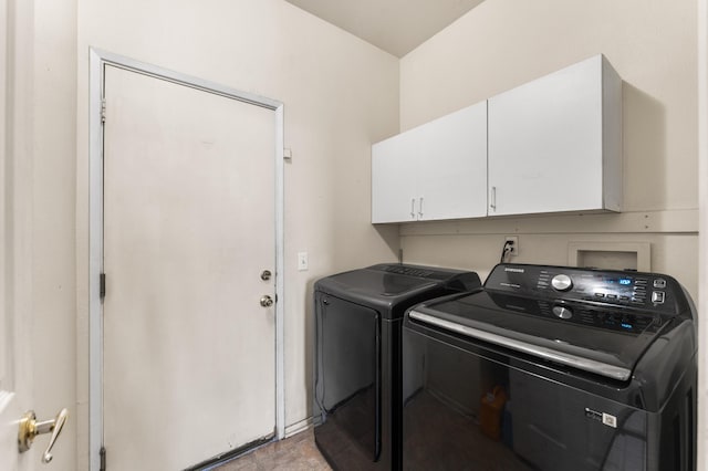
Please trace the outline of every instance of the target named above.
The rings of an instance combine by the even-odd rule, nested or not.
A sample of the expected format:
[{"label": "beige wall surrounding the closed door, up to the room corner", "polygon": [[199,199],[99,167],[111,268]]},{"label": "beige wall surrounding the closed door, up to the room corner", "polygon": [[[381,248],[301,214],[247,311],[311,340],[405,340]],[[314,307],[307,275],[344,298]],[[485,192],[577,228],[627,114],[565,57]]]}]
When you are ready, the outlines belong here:
[{"label": "beige wall surrounding the closed door, up to the room corner", "polygon": [[[87,423],[88,48],[284,103],[285,423],[311,415],[314,280],[397,253],[397,228],[372,228],[369,146],[398,129],[398,61],[281,0],[79,0],[79,469]],[[310,270],[295,270],[308,251]]]}]

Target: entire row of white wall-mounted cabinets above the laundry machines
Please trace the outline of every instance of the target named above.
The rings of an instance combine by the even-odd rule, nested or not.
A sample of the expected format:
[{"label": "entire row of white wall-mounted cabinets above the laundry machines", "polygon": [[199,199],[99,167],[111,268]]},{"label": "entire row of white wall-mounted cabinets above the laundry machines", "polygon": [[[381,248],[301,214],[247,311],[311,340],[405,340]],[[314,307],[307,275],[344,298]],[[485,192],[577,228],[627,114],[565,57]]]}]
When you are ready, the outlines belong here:
[{"label": "entire row of white wall-mounted cabinets above the laundry machines", "polygon": [[372,222],[622,209],[622,80],[602,55],[372,147]]}]

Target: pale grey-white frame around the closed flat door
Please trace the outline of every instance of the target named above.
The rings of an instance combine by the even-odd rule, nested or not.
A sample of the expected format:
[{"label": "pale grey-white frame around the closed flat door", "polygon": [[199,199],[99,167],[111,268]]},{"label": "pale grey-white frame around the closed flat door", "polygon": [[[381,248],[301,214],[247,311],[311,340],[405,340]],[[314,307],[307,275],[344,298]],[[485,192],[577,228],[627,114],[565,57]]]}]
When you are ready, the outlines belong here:
[{"label": "pale grey-white frame around the closed flat door", "polygon": [[[237,100],[274,112],[275,148],[275,438],[285,432],[284,381],[284,105],[275,100],[241,92],[179,72],[139,62],[100,49],[90,49],[88,77],[88,469],[101,469],[103,447],[103,98],[107,65]],[[205,457],[210,458],[210,457]]]}]

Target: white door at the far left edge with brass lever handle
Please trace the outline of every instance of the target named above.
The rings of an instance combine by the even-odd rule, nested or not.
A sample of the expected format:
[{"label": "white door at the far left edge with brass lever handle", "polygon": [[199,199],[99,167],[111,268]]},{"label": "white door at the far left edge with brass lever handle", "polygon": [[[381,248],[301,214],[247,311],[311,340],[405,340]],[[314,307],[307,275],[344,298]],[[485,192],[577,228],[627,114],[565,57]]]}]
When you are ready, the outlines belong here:
[{"label": "white door at the far left edge with brass lever handle", "polygon": [[[23,178],[23,166],[18,165],[20,159],[15,151],[19,147],[17,142],[22,139],[18,137],[13,112],[24,113],[25,108],[17,108],[17,103],[22,105],[25,100],[15,95],[15,90],[10,86],[12,78],[24,77],[22,62],[10,65],[8,60],[10,55],[18,55],[12,50],[21,50],[25,39],[22,34],[27,34],[27,30],[21,29],[19,34],[17,28],[10,28],[22,24],[18,18],[23,18],[25,10],[23,4],[18,9],[20,12],[15,11],[15,17],[12,17],[8,1],[0,0],[0,30],[3,32],[0,34],[0,470],[7,471],[29,470],[31,458],[34,458],[24,453],[20,459],[18,451],[18,420],[31,400],[31,360],[25,354],[29,353],[28,332],[32,314],[25,308],[28,296],[20,294],[29,289],[27,270],[31,266],[31,259],[27,257],[25,245],[31,232],[25,224],[14,221],[18,210],[27,209],[24,205],[32,192],[31,180]],[[13,30],[13,34],[6,33]],[[15,108],[9,107],[8,96],[15,101]],[[18,135],[10,139],[9,133]],[[27,154],[23,157],[25,161],[30,159]]]}]

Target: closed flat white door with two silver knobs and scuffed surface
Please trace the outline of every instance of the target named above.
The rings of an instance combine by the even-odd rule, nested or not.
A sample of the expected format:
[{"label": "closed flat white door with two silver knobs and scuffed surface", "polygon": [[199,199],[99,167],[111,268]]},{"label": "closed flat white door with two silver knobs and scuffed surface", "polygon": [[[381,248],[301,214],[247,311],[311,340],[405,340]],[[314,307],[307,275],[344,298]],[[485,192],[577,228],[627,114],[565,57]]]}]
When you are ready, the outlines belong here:
[{"label": "closed flat white door with two silver knobs and scuffed surface", "polygon": [[274,433],[274,112],[104,77],[107,467],[184,469]]}]

